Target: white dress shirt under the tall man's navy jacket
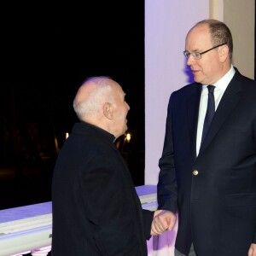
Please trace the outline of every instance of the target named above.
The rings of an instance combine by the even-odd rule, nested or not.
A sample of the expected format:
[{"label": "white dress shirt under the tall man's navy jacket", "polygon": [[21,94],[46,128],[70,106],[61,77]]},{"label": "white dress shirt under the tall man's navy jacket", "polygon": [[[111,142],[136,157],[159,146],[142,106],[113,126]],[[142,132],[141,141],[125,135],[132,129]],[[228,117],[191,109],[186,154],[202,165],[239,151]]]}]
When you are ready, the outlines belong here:
[{"label": "white dress shirt under the tall man's navy jacket", "polygon": [[[215,111],[218,108],[218,104],[224,95],[224,91],[227,89],[230,84],[230,80],[233,78],[236,73],[235,68],[231,65],[230,71],[224,75],[223,78],[219,79],[217,83],[212,84],[215,86],[214,89],[214,101],[215,101]],[[207,84],[208,85],[208,84]],[[205,116],[207,113],[207,102],[208,102],[208,90],[207,85],[202,85],[201,90],[201,100],[198,113],[198,123],[197,123],[197,133],[196,133],[196,155],[198,155],[200,146],[201,146],[201,135],[204,125]]]}]

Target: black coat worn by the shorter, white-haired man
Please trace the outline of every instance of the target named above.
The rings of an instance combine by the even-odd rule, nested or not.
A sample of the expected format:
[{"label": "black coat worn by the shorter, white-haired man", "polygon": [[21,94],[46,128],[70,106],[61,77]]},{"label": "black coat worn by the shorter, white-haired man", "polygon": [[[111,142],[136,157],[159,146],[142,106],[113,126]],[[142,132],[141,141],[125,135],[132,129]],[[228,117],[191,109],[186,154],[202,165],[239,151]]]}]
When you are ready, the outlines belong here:
[{"label": "black coat worn by the shorter, white-haired man", "polygon": [[154,212],[142,209],[114,137],[78,123],[55,164],[53,256],[147,255]]}]

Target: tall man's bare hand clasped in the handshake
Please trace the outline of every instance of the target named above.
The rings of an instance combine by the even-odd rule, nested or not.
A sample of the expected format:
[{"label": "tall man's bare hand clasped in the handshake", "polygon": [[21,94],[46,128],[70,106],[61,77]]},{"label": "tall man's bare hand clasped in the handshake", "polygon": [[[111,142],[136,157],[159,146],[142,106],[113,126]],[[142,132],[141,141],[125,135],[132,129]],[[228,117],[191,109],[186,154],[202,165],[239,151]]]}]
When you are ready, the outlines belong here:
[{"label": "tall man's bare hand clasped in the handshake", "polygon": [[[154,218],[151,224],[151,235],[157,236],[166,230],[172,230],[176,223],[176,215],[166,210],[157,210],[154,212]],[[253,255],[254,256],[254,255]]]}]

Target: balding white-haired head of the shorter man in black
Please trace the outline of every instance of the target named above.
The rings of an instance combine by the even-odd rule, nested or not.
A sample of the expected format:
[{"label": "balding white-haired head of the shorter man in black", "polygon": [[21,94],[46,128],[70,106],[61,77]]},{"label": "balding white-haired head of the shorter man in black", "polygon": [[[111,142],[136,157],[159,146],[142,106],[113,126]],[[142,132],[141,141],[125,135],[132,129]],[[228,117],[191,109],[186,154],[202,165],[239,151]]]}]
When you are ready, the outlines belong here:
[{"label": "balding white-haired head of the shorter man in black", "polygon": [[[127,129],[126,114],[130,109],[124,99],[124,91],[113,79],[93,77],[80,86],[73,108],[81,121],[99,126],[119,137]],[[119,131],[121,125],[125,128]]]}]

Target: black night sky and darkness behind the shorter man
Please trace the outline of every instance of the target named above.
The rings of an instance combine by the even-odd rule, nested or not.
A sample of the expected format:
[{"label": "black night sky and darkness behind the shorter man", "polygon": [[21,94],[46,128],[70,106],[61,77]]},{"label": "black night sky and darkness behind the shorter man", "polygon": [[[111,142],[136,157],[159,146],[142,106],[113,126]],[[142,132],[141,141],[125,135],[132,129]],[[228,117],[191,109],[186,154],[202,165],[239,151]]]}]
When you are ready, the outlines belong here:
[{"label": "black night sky and darkness behind the shorter man", "polygon": [[73,97],[90,76],[116,80],[131,106],[119,142],[144,182],[144,2],[9,3],[2,8],[1,207],[50,201],[58,149],[78,121]]}]

